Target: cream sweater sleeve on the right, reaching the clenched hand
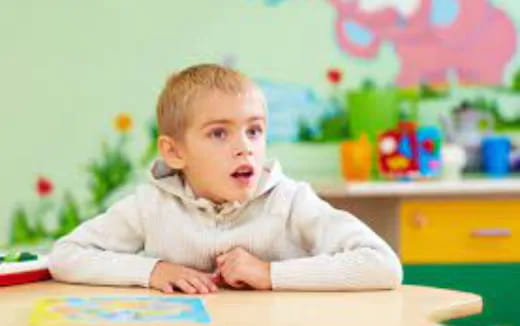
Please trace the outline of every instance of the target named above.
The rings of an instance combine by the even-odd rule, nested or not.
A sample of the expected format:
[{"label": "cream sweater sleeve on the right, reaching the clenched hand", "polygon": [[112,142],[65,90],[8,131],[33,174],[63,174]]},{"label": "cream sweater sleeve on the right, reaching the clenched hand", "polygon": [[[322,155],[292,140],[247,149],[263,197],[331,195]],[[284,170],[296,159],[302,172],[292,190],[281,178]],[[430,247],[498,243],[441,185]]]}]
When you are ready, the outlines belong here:
[{"label": "cream sweater sleeve on the right, reaching the clenched hand", "polygon": [[359,219],[298,186],[287,227],[309,257],[271,263],[273,290],[392,289],[402,282],[399,258]]}]

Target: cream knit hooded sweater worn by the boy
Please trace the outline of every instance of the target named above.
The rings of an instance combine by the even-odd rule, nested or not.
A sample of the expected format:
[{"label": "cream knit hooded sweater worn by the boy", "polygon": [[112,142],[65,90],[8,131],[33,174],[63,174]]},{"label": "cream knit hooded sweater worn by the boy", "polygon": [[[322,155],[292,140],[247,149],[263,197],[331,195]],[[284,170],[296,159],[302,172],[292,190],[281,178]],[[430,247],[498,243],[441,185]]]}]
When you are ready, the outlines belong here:
[{"label": "cream knit hooded sweater worn by the boy", "polygon": [[205,272],[215,257],[243,247],[271,262],[274,290],[395,288],[402,268],[392,249],[309,185],[267,163],[253,198],[215,205],[195,198],[182,177],[155,162],[150,183],[56,242],[57,280],[148,286],[158,260]]}]

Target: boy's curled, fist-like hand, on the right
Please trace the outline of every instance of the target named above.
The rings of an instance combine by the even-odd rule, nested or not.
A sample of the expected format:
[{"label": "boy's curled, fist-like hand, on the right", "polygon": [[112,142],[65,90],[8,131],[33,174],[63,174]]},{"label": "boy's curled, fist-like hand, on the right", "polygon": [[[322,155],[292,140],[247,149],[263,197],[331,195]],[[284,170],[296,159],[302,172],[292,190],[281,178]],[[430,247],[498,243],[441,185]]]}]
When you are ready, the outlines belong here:
[{"label": "boy's curled, fist-like hand, on the right", "polygon": [[234,288],[271,289],[271,265],[241,247],[218,256],[217,271]]}]

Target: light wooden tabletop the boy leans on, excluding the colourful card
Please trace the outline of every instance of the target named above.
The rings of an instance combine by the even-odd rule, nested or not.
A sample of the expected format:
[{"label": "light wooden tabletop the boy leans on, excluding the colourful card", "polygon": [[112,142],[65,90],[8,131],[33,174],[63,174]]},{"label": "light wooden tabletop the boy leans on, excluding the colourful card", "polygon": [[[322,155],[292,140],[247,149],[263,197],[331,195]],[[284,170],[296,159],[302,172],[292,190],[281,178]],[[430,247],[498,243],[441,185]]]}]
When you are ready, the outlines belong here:
[{"label": "light wooden tabletop the boy leans on, excluding the colourful card", "polygon": [[[142,288],[71,285],[54,281],[4,287],[0,288],[0,320],[2,325],[26,326],[38,298],[98,295],[164,294]],[[437,325],[443,320],[482,311],[482,299],[475,294],[406,285],[394,291],[373,292],[221,290],[200,297],[211,317],[211,325],[222,326]],[[180,325],[168,325],[173,324]]]}]

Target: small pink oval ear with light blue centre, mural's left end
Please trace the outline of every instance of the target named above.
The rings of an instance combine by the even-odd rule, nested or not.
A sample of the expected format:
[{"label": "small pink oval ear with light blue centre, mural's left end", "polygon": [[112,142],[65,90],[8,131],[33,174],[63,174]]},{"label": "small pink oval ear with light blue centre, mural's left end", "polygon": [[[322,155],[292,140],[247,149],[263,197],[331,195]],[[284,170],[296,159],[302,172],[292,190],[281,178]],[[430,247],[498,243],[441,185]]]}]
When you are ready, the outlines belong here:
[{"label": "small pink oval ear with light blue centre, mural's left end", "polygon": [[353,20],[338,20],[336,35],[341,49],[354,56],[371,58],[379,50],[379,37],[369,28]]}]

